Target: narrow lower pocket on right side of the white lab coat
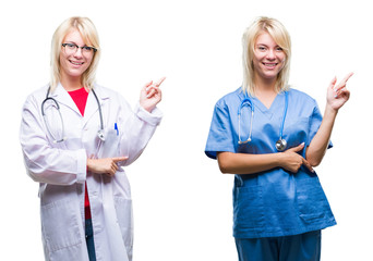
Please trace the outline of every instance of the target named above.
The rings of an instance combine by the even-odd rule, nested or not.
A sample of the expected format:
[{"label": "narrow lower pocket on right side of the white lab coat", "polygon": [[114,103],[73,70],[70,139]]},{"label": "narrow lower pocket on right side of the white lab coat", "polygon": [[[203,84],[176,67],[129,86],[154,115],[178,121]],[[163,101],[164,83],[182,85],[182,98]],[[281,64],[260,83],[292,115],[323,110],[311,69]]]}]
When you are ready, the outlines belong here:
[{"label": "narrow lower pocket on right side of the white lab coat", "polygon": [[118,224],[127,248],[127,252],[132,252],[133,245],[133,220],[132,200],[123,197],[115,197]]}]

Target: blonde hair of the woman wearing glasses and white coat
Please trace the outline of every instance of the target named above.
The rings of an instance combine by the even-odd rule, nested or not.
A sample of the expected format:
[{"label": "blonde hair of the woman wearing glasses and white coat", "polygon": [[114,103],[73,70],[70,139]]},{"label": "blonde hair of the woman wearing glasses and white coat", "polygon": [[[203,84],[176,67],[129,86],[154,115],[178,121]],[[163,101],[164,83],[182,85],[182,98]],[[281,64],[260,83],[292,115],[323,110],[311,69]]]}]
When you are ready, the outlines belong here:
[{"label": "blonde hair of the woman wearing glasses and white coat", "polygon": [[87,17],[70,17],[65,20],[55,32],[51,40],[50,53],[50,89],[53,91],[61,80],[60,72],[60,52],[64,37],[73,29],[79,30],[86,45],[93,46],[97,49],[92,59],[89,67],[82,75],[82,85],[88,89],[93,88],[96,69],[98,65],[100,50],[99,39],[95,25]]}]

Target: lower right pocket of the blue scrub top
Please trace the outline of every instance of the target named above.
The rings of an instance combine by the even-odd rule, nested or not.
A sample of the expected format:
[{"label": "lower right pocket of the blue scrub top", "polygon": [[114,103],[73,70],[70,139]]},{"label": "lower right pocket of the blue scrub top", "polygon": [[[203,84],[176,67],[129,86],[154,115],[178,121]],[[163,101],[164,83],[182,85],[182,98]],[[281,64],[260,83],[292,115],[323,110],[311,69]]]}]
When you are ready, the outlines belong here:
[{"label": "lower right pocket of the blue scrub top", "polygon": [[299,216],[305,222],[322,221],[325,215],[332,214],[317,177],[297,181],[297,200]]}]

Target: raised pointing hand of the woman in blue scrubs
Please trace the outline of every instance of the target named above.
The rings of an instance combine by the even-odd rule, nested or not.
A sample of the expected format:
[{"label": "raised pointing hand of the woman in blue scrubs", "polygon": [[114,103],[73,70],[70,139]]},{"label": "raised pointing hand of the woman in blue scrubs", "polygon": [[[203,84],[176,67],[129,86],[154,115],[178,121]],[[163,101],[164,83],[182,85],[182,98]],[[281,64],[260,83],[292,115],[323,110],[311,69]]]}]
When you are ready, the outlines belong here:
[{"label": "raised pointing hand of the woman in blue scrubs", "polygon": [[334,77],[327,89],[327,104],[335,111],[338,111],[350,98],[350,91],[346,89],[347,80],[353,75],[349,73],[339,84]]}]

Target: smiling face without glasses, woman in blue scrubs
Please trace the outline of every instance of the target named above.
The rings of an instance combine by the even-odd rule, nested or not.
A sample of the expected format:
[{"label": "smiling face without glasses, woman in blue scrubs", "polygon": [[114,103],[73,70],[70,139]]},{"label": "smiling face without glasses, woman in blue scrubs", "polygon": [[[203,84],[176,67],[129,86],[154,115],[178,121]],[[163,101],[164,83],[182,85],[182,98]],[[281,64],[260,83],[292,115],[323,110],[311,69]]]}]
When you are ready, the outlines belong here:
[{"label": "smiling face without glasses, woman in blue scrubs", "polygon": [[285,65],[286,54],[273,37],[263,32],[254,45],[254,76],[261,80],[275,80]]}]

